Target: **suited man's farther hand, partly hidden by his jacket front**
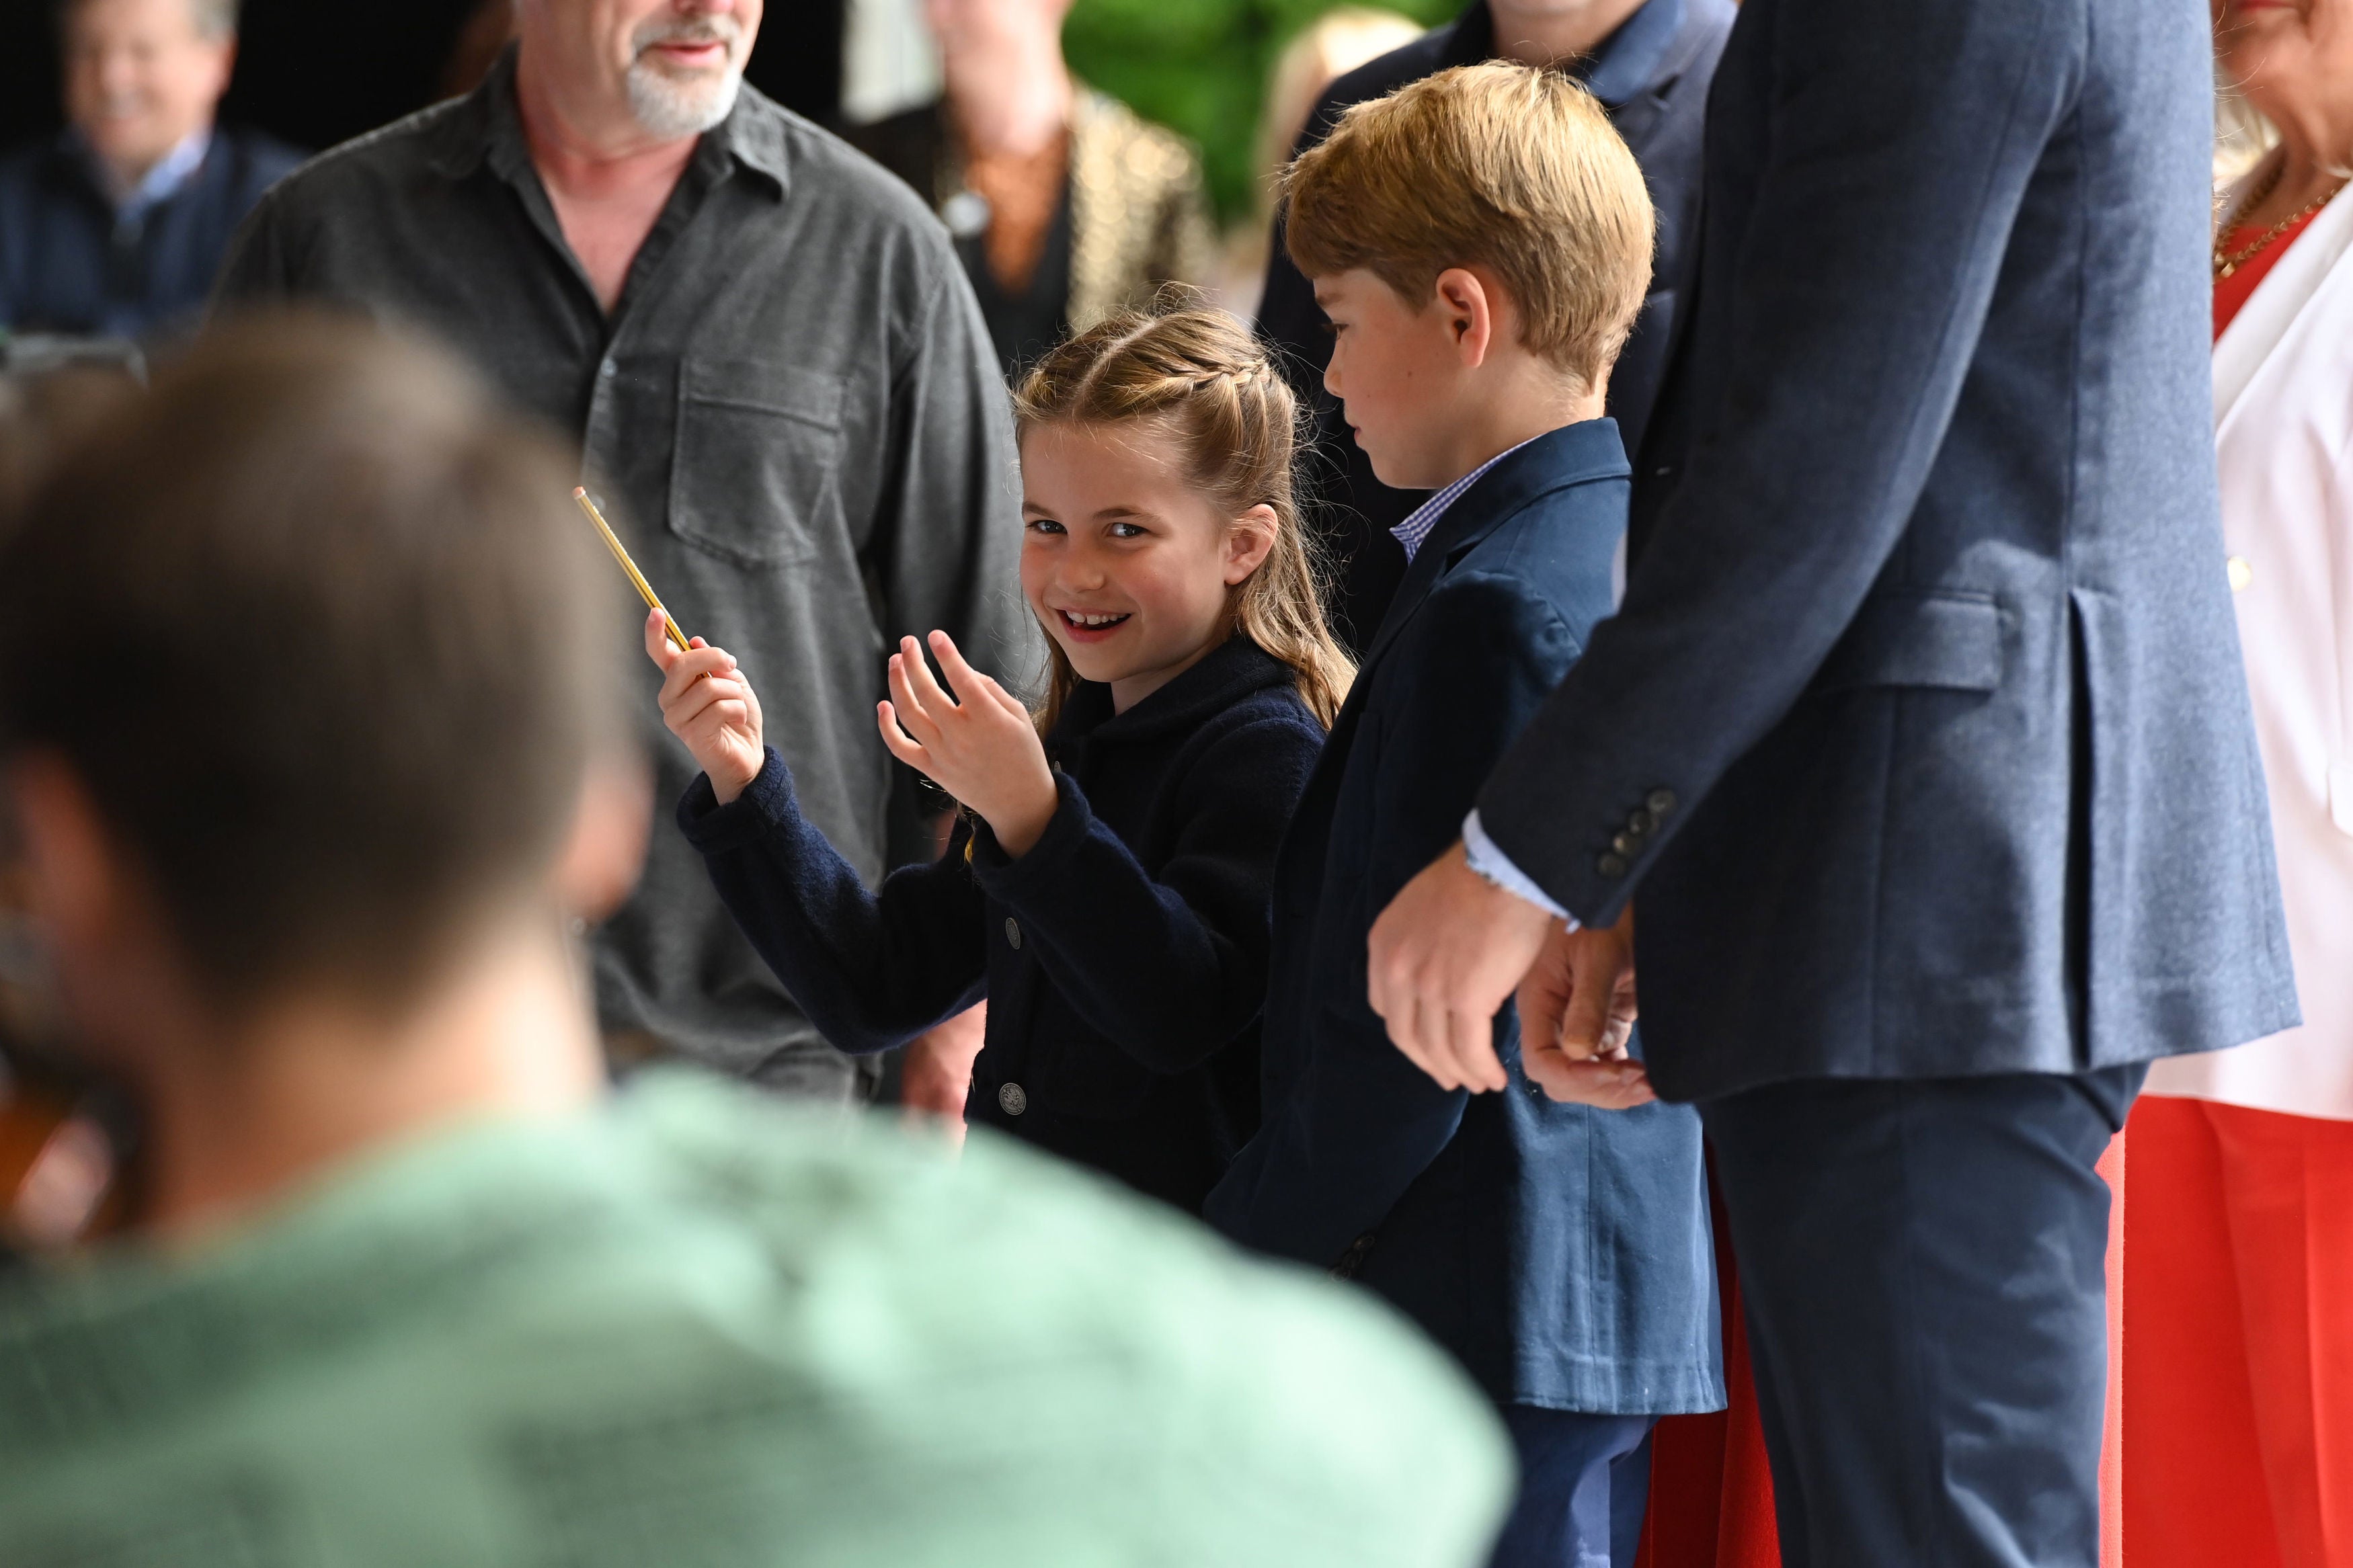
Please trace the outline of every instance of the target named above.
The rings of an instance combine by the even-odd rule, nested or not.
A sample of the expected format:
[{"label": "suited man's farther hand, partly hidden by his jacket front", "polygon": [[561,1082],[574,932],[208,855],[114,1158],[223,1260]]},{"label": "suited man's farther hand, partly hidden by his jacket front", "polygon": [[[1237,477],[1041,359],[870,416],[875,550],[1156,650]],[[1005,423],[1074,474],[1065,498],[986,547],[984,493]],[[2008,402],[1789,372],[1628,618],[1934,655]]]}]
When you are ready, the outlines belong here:
[{"label": "suited man's farther hand, partly hidden by his jacket front", "polygon": [[1649,1074],[1626,1056],[1633,1037],[1633,905],[1607,931],[1553,926],[1520,980],[1520,1070],[1555,1100],[1628,1110],[1649,1105]]}]

